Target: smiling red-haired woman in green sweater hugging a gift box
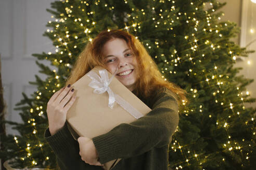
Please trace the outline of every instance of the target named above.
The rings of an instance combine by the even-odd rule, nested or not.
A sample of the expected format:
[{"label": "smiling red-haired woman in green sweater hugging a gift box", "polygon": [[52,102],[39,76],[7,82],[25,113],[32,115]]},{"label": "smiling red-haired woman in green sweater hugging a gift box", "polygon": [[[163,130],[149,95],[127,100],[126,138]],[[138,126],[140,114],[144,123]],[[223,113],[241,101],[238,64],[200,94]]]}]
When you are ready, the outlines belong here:
[{"label": "smiling red-haired woman in green sweater hugging a gift box", "polygon": [[[112,74],[118,68],[115,77],[152,110],[106,134],[75,141],[66,123],[75,101],[70,84],[97,65]],[[67,84],[47,104],[49,128],[45,131],[61,169],[103,169],[104,163],[118,158],[121,161],[113,170],[168,169],[169,143],[178,125],[178,103],[186,100],[185,91],[162,78],[133,35],[122,30],[101,32],[79,55]]]}]

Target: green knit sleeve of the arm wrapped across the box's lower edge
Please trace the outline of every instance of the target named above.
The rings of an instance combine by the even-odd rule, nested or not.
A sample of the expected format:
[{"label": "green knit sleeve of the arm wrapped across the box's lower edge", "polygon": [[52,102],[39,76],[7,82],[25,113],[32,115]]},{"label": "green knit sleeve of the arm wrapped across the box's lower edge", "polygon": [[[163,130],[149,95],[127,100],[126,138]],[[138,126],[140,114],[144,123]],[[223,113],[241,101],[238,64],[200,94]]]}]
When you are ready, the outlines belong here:
[{"label": "green knit sleeve of the arm wrapped across the box's lower edge", "polygon": [[177,101],[170,93],[162,92],[147,115],[132,123],[121,123],[108,133],[93,138],[99,162],[130,158],[153,147],[169,145],[177,125]]}]

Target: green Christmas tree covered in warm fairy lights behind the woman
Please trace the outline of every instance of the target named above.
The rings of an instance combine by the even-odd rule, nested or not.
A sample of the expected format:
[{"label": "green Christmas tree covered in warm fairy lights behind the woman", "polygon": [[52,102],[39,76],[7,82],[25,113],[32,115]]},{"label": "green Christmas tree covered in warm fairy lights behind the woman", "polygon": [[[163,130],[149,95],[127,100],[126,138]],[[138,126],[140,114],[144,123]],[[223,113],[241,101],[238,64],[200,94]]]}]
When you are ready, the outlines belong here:
[{"label": "green Christmas tree covered in warm fairy lights behind the woman", "polygon": [[33,54],[56,69],[36,64],[38,91],[17,104],[22,123],[8,122],[19,136],[8,135],[1,157],[14,167],[56,166],[44,140],[47,102],[65,86],[85,45],[103,30],[122,29],[138,38],[163,74],[188,92],[169,150],[173,169],[252,169],[256,165],[255,102],[246,92],[253,80],[238,76],[234,64],[248,53],[230,40],[239,33],[232,22],[220,22],[225,3],[215,0],[100,1],[60,0],[47,9],[55,20],[44,36],[56,53]]}]

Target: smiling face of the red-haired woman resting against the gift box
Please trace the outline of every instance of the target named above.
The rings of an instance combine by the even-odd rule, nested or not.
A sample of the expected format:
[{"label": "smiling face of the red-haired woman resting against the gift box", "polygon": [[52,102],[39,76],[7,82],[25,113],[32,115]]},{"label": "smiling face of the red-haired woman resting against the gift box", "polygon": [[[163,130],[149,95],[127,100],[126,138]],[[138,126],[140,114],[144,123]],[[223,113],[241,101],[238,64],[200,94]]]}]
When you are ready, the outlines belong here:
[{"label": "smiling face of the red-haired woman resting against the gift box", "polygon": [[103,47],[104,63],[108,71],[114,74],[118,68],[116,78],[130,91],[134,90],[137,80],[137,61],[132,50],[124,39],[115,38],[107,41]]}]

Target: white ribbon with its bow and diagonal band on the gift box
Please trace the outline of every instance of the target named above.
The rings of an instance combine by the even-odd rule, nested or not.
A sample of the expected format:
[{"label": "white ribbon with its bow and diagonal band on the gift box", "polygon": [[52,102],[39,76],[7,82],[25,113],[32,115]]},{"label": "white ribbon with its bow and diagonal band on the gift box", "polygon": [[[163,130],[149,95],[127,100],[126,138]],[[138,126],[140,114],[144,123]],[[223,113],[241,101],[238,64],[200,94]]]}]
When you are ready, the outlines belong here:
[{"label": "white ribbon with its bow and diagonal band on the gift box", "polygon": [[111,109],[114,106],[114,102],[117,102],[134,118],[138,119],[140,117],[143,117],[143,114],[141,112],[139,112],[136,108],[134,108],[132,105],[126,102],[122,97],[120,97],[117,94],[114,94],[114,92],[109,88],[109,84],[112,81],[114,75],[117,74],[117,71],[118,70],[116,70],[113,76],[109,79],[108,71],[106,69],[99,70],[100,77],[93,70],[91,70],[89,73],[86,74],[87,76],[89,76],[89,78],[92,79],[88,86],[94,88],[93,92],[96,94],[102,94],[107,91],[109,94],[108,107],[110,107]]}]

